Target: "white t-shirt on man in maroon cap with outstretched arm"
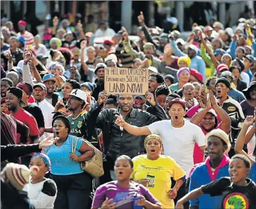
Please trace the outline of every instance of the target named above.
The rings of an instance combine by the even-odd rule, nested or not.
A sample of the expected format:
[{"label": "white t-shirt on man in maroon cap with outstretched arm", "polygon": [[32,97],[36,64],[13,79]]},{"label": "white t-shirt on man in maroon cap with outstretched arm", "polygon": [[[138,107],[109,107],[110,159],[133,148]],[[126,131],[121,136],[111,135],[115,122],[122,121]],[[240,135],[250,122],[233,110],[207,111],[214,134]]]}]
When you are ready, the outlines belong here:
[{"label": "white t-shirt on man in maroon cap with outstretched arm", "polygon": [[205,135],[199,126],[184,120],[181,128],[172,126],[170,120],[162,120],[147,126],[152,134],[159,135],[164,145],[164,154],[174,158],[188,178],[194,166],[194,144],[205,145]]}]

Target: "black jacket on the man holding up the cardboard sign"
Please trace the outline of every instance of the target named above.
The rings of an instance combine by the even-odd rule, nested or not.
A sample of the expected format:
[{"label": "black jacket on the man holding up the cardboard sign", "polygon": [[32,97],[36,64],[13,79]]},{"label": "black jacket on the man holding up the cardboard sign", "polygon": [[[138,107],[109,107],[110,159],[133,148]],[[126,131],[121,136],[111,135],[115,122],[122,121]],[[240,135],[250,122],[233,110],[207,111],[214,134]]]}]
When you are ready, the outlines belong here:
[{"label": "black jacket on the man holding up the cardboard sign", "polygon": [[[131,113],[125,117],[125,122],[133,125],[133,126],[148,126],[153,122],[157,122],[159,120],[167,120],[168,117],[162,109],[162,107],[157,104],[153,107],[155,115],[151,115],[146,111],[142,111],[140,109],[131,109]],[[96,105],[92,106],[90,111],[88,112],[88,118],[90,118],[90,122],[94,123],[96,128],[101,128],[103,133],[105,128],[107,128],[108,124],[110,124],[110,118],[112,118],[110,124],[110,139],[109,143],[106,144],[105,136],[103,135],[103,143],[104,143],[104,150],[108,150],[108,154],[112,158],[113,161],[116,160],[116,157],[120,156],[121,154],[126,154],[127,156],[133,158],[138,156],[139,154],[144,154],[144,139],[146,136],[133,136],[127,133],[126,130],[120,128],[115,124],[116,121],[116,114],[119,115],[119,109],[105,109],[101,113],[99,113],[100,108]],[[97,120],[95,120],[95,116],[97,113],[99,116]],[[94,116],[92,117],[91,114]],[[122,130],[123,129],[123,130]]]}]

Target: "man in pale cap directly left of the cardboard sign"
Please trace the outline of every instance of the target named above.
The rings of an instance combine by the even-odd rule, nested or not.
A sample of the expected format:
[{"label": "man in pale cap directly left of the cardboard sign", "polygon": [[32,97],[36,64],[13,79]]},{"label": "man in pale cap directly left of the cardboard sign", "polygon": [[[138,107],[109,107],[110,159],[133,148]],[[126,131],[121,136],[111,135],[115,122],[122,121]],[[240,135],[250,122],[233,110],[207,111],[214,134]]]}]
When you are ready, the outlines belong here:
[{"label": "man in pale cap directly left of the cardboard sign", "polygon": [[105,76],[105,68],[107,66],[103,63],[97,64],[95,67],[94,73],[97,75],[97,79],[94,81],[96,83],[97,87],[94,88],[92,92],[92,96],[97,99],[99,96],[99,92],[104,91],[104,76]]}]

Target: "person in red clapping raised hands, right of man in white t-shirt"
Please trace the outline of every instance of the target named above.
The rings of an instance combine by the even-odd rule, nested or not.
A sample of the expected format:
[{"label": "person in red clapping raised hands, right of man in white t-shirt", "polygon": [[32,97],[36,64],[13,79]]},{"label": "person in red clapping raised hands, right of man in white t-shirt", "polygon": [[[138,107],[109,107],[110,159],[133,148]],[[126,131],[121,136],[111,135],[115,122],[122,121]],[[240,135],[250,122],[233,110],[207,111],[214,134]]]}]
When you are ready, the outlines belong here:
[{"label": "person in red clapping raised hands, right of man in white t-shirt", "polygon": [[[194,113],[199,111],[195,115],[192,112],[189,113],[189,111],[187,113],[187,115],[194,115],[190,120],[192,124],[198,125],[201,130],[203,130],[205,135],[214,129],[221,129],[224,130],[227,135],[229,134],[231,128],[231,120],[229,115],[227,115],[227,113],[218,106],[216,97],[212,92],[209,92],[209,98],[205,108],[199,108],[199,105],[197,105],[192,110]],[[199,145],[197,144],[194,146],[193,158],[194,164],[203,162],[203,153],[200,152]]]}]

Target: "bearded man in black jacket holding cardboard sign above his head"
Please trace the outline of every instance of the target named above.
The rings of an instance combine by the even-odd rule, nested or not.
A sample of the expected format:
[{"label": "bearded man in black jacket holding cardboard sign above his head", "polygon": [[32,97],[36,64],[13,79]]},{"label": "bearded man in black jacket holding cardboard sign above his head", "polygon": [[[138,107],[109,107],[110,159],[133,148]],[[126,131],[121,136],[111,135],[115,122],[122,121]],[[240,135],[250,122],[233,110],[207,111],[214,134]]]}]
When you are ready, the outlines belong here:
[{"label": "bearded man in black jacket holding cardboard sign above his head", "polygon": [[[133,158],[134,156],[144,153],[145,136],[136,137],[116,125],[115,121],[118,115],[122,115],[120,117],[123,117],[126,122],[136,126],[147,126],[158,120],[167,119],[164,109],[155,102],[153,94],[149,92],[146,94],[146,100],[148,100],[153,106],[153,109],[155,109],[155,115],[151,115],[140,109],[133,109],[134,99],[131,94],[118,95],[119,107],[117,109],[104,109],[100,113],[101,104],[106,99],[106,92],[101,92],[98,102],[88,111],[88,120],[91,125],[96,128],[101,128],[103,132],[103,147],[107,161],[103,165],[105,174],[100,178],[101,184],[115,178],[114,161],[118,156],[126,154]],[[95,115],[97,120],[94,120]]]}]

